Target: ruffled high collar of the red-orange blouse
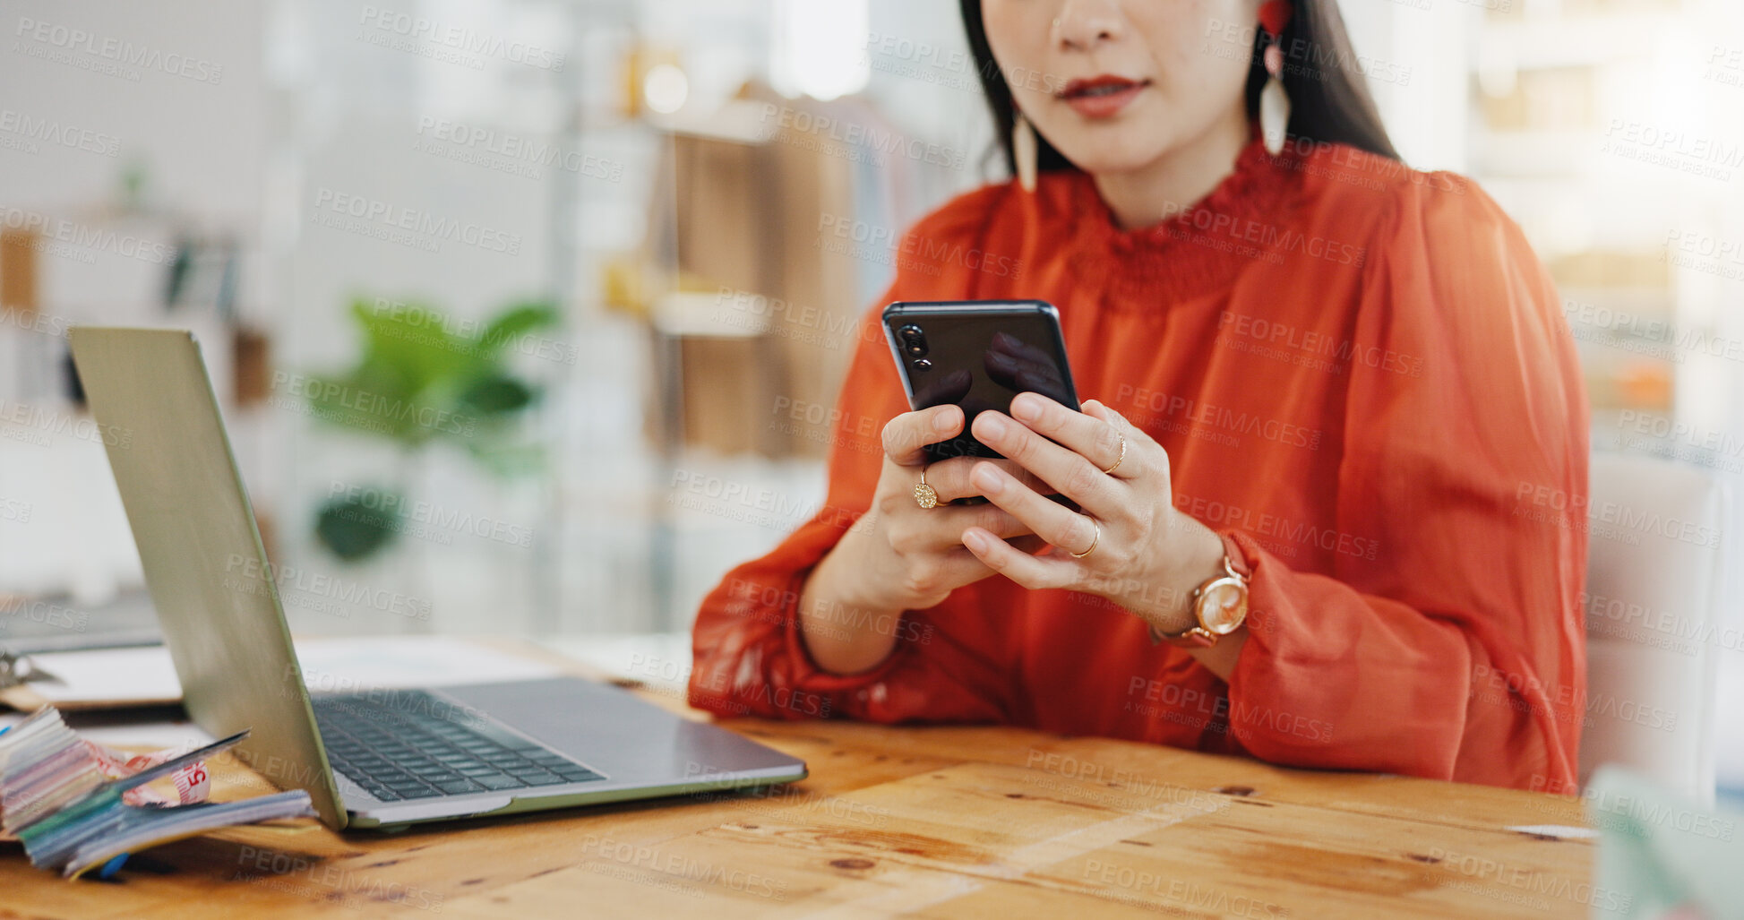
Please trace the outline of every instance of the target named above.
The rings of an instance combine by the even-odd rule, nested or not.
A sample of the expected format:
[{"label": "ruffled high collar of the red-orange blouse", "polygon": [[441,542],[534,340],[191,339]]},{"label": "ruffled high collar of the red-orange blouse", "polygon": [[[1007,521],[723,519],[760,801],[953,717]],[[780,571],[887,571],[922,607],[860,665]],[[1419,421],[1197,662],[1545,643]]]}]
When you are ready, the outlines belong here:
[{"label": "ruffled high collar of the red-orange blouse", "polygon": [[1299,173],[1298,154],[1285,148],[1273,157],[1256,136],[1205,197],[1167,220],[1123,230],[1090,175],[1074,171],[1069,201],[1076,274],[1135,307],[1226,286],[1242,269],[1264,260],[1264,241],[1294,222]]}]

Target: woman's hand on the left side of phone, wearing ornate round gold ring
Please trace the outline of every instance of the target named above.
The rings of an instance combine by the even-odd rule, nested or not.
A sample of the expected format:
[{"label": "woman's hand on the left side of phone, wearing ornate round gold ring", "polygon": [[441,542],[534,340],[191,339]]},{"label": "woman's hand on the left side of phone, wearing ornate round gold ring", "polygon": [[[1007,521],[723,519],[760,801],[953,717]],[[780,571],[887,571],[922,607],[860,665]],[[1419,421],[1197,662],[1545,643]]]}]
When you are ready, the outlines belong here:
[{"label": "woman's hand on the left side of phone, wearing ornate round gold ring", "polygon": [[[933,608],[952,590],[994,574],[963,546],[963,531],[985,527],[1018,538],[1018,548],[1041,546],[996,505],[949,505],[980,494],[970,484],[970,468],[984,457],[928,464],[926,445],[961,433],[963,410],[956,405],[903,412],[884,426],[884,466],[872,506],[806,580],[800,625],[818,667],[853,674],[877,665],[896,644],[902,611]],[[994,463],[1046,489],[1015,463]],[[914,499],[923,468],[926,484],[938,492],[937,508],[921,508]]]}]

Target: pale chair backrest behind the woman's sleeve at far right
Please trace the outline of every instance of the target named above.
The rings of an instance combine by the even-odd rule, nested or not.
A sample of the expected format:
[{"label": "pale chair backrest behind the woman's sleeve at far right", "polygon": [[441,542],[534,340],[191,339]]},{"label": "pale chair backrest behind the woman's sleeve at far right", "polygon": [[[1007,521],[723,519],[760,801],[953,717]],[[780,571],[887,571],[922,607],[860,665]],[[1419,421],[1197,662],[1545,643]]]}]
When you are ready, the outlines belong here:
[{"label": "pale chair backrest behind the woman's sleeve at far right", "polygon": [[1617,763],[1713,803],[1725,485],[1625,454],[1591,475],[1580,782]]}]

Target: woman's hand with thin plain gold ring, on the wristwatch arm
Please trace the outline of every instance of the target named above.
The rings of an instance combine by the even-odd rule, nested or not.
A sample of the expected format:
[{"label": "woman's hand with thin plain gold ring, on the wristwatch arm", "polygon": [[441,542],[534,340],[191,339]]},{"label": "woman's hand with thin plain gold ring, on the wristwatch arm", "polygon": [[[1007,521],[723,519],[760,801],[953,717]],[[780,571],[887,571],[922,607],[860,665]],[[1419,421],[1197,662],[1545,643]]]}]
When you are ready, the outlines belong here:
[{"label": "woman's hand with thin plain gold ring, on the wristwatch arm", "polygon": [[1013,398],[1012,415],[978,414],[971,431],[1080,508],[978,463],[970,482],[1064,552],[1031,555],[970,527],[963,545],[971,553],[1025,588],[1093,594],[1165,634],[1198,625],[1193,588],[1223,569],[1224,548],[1214,531],[1174,506],[1163,445],[1095,400],[1073,412],[1036,393]]}]

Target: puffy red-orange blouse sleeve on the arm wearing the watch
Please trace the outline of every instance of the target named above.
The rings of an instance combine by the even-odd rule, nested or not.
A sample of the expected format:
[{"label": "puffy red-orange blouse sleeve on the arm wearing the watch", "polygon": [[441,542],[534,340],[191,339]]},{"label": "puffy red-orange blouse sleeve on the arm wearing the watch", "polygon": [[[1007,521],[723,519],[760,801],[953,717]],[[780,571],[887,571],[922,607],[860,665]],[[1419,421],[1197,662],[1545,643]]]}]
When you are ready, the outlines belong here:
[{"label": "puffy red-orange blouse sleeve on the arm wearing the watch", "polygon": [[1585,395],[1519,229],[1437,178],[1369,250],[1315,538],[1334,571],[1235,534],[1252,613],[1230,733],[1277,763],[1557,787],[1585,705]]}]

